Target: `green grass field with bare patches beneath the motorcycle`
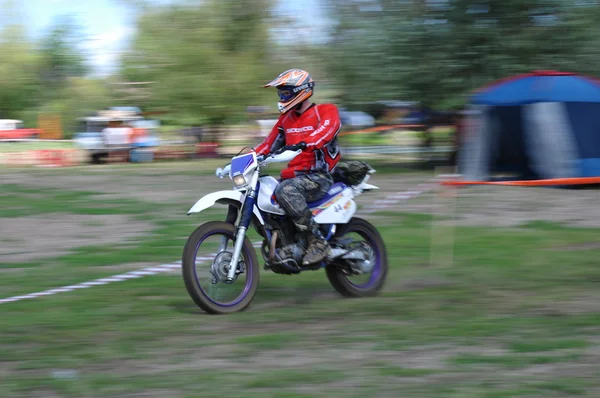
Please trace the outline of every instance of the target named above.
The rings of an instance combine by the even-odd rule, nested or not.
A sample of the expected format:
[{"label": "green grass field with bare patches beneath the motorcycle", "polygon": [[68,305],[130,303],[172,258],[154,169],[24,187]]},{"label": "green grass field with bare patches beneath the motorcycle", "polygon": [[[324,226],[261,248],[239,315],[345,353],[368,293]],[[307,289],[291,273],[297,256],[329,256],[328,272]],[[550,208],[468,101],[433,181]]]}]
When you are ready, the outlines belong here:
[{"label": "green grass field with bare patches beneath the motorcycle", "polygon": [[[229,189],[204,166],[3,172],[0,298],[179,259],[223,216],[186,216]],[[382,191],[358,202],[429,177],[376,174]],[[322,272],[263,272],[247,311],[209,316],[174,272],[0,304],[0,397],[600,396],[597,200],[495,192],[461,202],[446,268],[429,264],[430,196],[365,216],[389,250],[380,297],[342,299]],[[553,211],[569,206],[583,219]]]}]

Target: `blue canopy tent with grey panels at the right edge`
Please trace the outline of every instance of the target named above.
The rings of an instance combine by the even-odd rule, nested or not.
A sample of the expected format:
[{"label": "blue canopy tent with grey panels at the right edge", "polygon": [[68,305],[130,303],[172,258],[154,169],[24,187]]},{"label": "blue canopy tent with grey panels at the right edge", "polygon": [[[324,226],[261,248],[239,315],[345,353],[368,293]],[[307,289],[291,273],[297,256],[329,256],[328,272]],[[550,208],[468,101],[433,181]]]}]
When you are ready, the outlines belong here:
[{"label": "blue canopy tent with grey panels at the right edge", "polygon": [[470,102],[465,179],[600,176],[600,80],[535,71],[485,86]]}]

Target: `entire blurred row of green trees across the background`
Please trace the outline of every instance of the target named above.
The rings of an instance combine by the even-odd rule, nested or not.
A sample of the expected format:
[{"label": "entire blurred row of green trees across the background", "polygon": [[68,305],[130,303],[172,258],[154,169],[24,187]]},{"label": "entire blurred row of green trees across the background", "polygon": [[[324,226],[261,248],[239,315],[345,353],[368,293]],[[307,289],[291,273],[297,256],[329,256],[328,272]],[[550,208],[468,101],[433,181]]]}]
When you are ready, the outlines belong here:
[{"label": "entire blurred row of green trees across the background", "polygon": [[[275,105],[262,83],[299,67],[316,79],[317,102],[458,108],[498,78],[532,69],[593,75],[600,64],[598,1],[332,0],[287,16],[276,14],[279,1],[121,0],[136,10],[137,33],[110,79],[152,82],[149,96],[121,103],[167,111],[167,125],[237,123],[249,105]],[[120,98],[88,77],[74,19],[58,18],[33,42],[17,6],[2,1],[0,117],[35,127],[40,111],[59,112],[69,135],[77,117]],[[308,18],[320,11],[328,20],[315,31]]]}]

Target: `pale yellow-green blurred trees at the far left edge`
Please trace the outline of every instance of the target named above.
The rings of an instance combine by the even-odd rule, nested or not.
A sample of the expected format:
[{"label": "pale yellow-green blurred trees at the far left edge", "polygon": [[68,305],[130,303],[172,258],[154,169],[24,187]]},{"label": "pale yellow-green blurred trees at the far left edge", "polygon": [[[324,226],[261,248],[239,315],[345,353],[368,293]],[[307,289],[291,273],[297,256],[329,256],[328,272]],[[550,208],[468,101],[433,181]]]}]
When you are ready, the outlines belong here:
[{"label": "pale yellow-green blurred trees at the far left edge", "polygon": [[104,82],[84,77],[87,68],[81,38],[70,19],[57,20],[39,48],[20,25],[0,30],[0,118],[22,119],[37,126],[39,112],[62,117],[65,135],[76,119],[110,104]]}]

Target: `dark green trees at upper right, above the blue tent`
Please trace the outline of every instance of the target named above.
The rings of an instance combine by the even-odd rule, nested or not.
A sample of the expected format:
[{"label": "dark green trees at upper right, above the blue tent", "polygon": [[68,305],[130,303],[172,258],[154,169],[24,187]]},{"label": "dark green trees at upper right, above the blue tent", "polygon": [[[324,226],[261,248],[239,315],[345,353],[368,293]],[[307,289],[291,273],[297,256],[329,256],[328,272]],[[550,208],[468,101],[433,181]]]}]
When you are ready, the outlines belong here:
[{"label": "dark green trees at upper right, above the blue tent", "polygon": [[[596,73],[597,2],[336,1],[329,70],[347,102],[455,107],[463,94],[533,69]],[[458,95],[457,95],[458,94]]]}]

